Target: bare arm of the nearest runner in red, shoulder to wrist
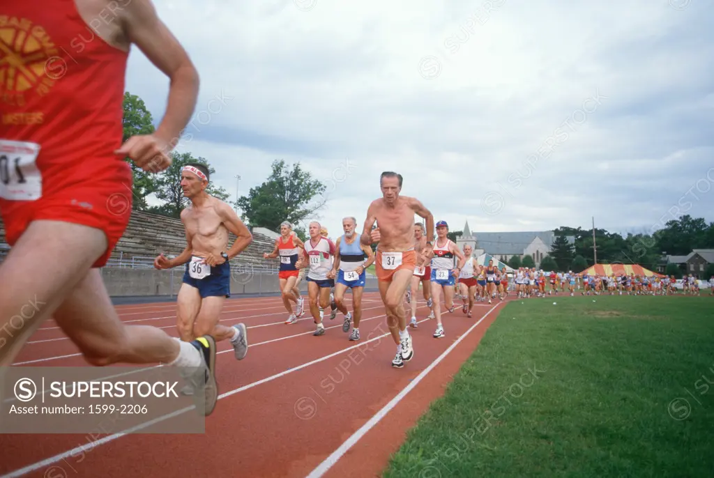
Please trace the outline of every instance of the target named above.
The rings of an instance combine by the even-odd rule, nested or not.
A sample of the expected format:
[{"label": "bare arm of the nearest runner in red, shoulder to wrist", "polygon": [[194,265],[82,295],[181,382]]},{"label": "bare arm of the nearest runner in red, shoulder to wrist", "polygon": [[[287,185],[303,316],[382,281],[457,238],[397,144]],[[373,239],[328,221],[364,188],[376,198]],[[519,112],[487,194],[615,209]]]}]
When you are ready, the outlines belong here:
[{"label": "bare arm of the nearest runner in red, shoulder to wrist", "polygon": [[196,108],[198,72],[149,0],[132,0],[121,9],[124,34],[171,79],[166,113],[154,136],[171,151]]}]

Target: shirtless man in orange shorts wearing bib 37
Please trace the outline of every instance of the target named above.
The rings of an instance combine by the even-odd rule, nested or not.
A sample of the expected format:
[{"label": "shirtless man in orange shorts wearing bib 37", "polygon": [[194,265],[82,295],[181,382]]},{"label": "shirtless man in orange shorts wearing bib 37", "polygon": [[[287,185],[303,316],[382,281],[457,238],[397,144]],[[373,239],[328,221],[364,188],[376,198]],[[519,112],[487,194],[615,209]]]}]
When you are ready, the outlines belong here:
[{"label": "shirtless man in orange shorts wearing bib 37", "polygon": [[[380,176],[382,198],[373,200],[367,210],[362,230],[363,245],[378,243],[375,272],[379,294],[386,309],[387,324],[397,353],[392,366],[401,368],[414,356],[411,337],[406,329],[403,298],[416,266],[414,250],[414,214],[426,220],[426,245],[433,240],[434,218],[416,198],[400,196],[401,174],[386,171]],[[378,227],[373,229],[373,226]]]}]

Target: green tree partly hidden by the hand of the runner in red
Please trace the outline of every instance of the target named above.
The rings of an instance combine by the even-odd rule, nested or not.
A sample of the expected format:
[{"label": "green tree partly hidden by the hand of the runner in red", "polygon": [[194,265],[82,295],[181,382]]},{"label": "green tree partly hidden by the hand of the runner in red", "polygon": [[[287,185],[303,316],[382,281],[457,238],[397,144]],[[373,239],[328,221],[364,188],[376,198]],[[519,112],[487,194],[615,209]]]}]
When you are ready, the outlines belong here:
[{"label": "green tree partly hidden by the hand of the runner in red", "polygon": [[[132,95],[129,91],[124,93],[124,116],[122,118],[124,126],[124,135],[122,143],[127,141],[131,136],[146,135],[154,133],[155,128],[151,113],[146,109],[144,100],[139,96]],[[149,205],[146,203],[146,196],[156,192],[156,175],[147,173],[136,167],[134,161],[129,158],[124,158],[124,161],[131,166],[131,174],[134,176],[133,209],[147,210]]]}]

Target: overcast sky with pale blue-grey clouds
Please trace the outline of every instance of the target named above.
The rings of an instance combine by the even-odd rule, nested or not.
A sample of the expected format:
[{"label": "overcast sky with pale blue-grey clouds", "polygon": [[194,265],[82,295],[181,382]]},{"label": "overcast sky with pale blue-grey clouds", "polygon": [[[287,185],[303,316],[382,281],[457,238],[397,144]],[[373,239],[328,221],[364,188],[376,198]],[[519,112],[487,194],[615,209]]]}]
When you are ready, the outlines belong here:
[{"label": "overcast sky with pale blue-grey clouds", "polygon": [[[178,151],[231,199],[282,158],[328,186],[333,238],[386,170],[452,230],[714,220],[711,1],[155,4],[201,75]],[[157,120],[168,86],[134,49],[126,89]]]}]

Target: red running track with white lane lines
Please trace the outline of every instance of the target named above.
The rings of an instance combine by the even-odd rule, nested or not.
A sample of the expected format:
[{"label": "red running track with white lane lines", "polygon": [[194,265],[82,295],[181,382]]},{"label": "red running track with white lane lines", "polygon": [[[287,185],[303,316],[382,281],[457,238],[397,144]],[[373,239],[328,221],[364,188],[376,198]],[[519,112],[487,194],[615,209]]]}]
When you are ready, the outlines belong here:
[{"label": "red running track with white lane lines", "polygon": [[[349,294],[346,305],[351,310]],[[325,335],[313,337],[309,310],[285,325],[280,298],[227,300],[221,323],[245,323],[249,350],[238,362],[227,342],[218,344],[221,396],[205,434],[4,434],[0,478],[176,477],[189,470],[212,477],[375,476],[501,309],[503,302],[478,302],[468,318],[458,305],[453,314],[442,307],[446,337],[435,339],[436,321],[426,319],[421,300],[419,327],[409,329],[414,357],[395,369],[396,345],[378,293],[363,295],[359,342],[342,332],[340,312],[333,321],[325,317]],[[116,310],[128,324],[154,325],[176,336],[174,303]],[[14,366],[86,362],[49,320]]]}]

